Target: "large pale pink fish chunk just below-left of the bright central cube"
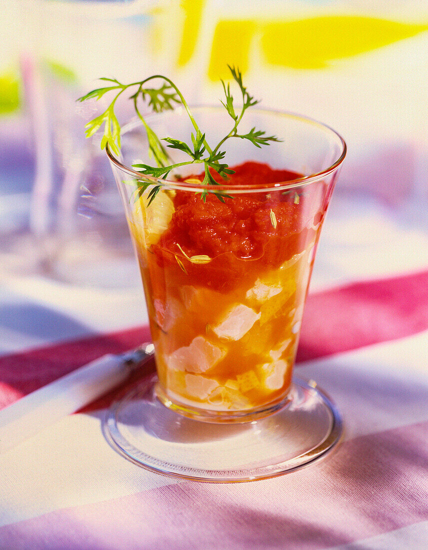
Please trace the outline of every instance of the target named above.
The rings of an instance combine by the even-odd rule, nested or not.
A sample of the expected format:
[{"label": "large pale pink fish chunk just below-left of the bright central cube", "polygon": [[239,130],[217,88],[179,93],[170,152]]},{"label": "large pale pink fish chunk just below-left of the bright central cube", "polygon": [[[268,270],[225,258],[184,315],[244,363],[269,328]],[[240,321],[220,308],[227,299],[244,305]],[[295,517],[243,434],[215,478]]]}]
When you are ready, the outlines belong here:
[{"label": "large pale pink fish chunk just below-left of the bright central cube", "polygon": [[167,358],[167,365],[177,371],[205,372],[217,365],[226,352],[202,336],[196,336],[190,345],[178,348]]}]

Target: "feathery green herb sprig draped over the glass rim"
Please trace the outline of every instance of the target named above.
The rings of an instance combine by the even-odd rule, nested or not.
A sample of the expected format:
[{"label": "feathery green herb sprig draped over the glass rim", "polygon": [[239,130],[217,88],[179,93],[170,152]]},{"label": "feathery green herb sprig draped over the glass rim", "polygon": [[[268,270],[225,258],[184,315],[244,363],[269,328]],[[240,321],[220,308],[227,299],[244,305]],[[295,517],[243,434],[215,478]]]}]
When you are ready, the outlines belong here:
[{"label": "feathery green herb sprig draped over the glass rim", "polygon": [[[249,140],[256,147],[270,145],[271,141],[280,141],[276,136],[267,136],[265,131],[256,130],[255,128],[252,128],[247,134],[240,134],[238,132],[238,125],[241,122],[246,109],[256,105],[259,101],[255,100],[254,97],[250,96],[248,93],[243,84],[242,74],[239,69],[235,69],[230,65],[228,65],[228,67],[242,94],[242,107],[240,107],[240,111],[238,110],[238,113],[235,111],[234,98],[231,94],[230,84],[226,85],[222,80],[221,82],[226,99],[225,101],[221,101],[221,103],[226,108],[229,116],[232,118],[233,127],[215,147],[210,147],[210,145],[208,145],[205,138],[205,133],[202,133],[197,125],[187,102],[177,86],[175,86],[169,78],[162,75],[149,76],[149,78],[131,84],[122,84],[117,79],[101,78],[100,80],[107,81],[109,86],[92,90],[85,96],[80,97],[78,101],[86,101],[91,98],[99,100],[107,94],[107,92],[116,91],[116,95],[105,112],[101,113],[100,116],[94,118],[85,125],[86,137],[90,138],[90,136],[94,135],[96,131],[99,130],[104,124],[101,149],[105,149],[108,144],[109,148],[114,153],[118,154],[120,149],[120,125],[116,114],[114,113],[114,107],[123,92],[131,87],[137,86],[136,91],[129,97],[129,99],[133,100],[135,112],[144,125],[147,133],[147,140],[149,142],[149,151],[156,162],[156,166],[150,166],[149,164],[133,164],[133,167],[138,169],[137,171],[143,175],[152,176],[158,179],[166,179],[168,174],[175,168],[186,166],[188,164],[204,164],[205,176],[204,180],[202,180],[202,185],[218,186],[220,184],[218,184],[213,178],[210,168],[217,172],[217,174],[219,174],[223,179],[227,179],[229,175],[234,173],[234,171],[228,167],[228,164],[222,162],[224,156],[226,155],[226,151],[222,151],[221,147],[225,141],[230,138],[240,138]],[[160,87],[147,87],[147,84],[155,79],[161,79],[163,84]],[[169,137],[162,138],[162,140],[160,140],[142,116],[139,108],[139,101],[146,102],[155,113],[174,109],[177,105],[183,105],[195,130],[195,133],[191,133],[191,145],[184,141]],[[179,163],[171,163],[171,159],[169,158],[162,141],[167,143],[167,147],[169,147],[169,149],[177,149],[184,152],[189,156],[189,160]],[[162,184],[153,184],[150,180],[147,182],[138,182],[139,189],[137,196],[141,197],[149,186],[152,186],[152,188],[147,195],[148,205],[150,205],[153,199],[155,199],[156,195],[162,188]],[[214,193],[222,202],[224,202],[224,199],[227,197],[231,198],[230,195],[226,195],[221,191],[213,190],[209,192]],[[208,191],[206,189],[201,191],[201,199],[204,202],[206,201],[207,193]]]}]

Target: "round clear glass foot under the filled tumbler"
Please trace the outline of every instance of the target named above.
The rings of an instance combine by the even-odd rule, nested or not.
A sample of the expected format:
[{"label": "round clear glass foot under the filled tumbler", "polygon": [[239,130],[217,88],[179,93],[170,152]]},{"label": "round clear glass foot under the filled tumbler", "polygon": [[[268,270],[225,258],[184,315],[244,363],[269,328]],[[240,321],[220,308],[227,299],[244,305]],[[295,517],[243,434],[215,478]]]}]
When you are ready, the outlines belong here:
[{"label": "round clear glass foot under the filled tumbler", "polygon": [[313,381],[293,378],[287,405],[242,423],[208,423],[177,414],[156,395],[157,376],[140,382],[108,410],[112,447],[147,470],[205,482],[254,481],[287,474],[330,452],[343,422]]}]

